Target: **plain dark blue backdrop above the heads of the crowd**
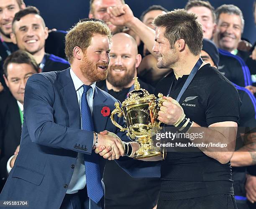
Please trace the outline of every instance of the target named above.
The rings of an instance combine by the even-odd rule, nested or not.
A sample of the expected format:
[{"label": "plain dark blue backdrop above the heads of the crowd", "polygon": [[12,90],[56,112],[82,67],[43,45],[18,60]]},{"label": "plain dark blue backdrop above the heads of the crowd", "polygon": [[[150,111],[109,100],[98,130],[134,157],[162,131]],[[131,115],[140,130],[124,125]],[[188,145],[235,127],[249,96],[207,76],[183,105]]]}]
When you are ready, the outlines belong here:
[{"label": "plain dark blue backdrop above the heads of the crowd", "polygon": [[[49,28],[67,31],[79,19],[87,18],[89,13],[89,0],[24,0],[26,5],[36,6]],[[136,17],[140,17],[143,10],[151,5],[158,4],[168,10],[184,8],[187,0],[125,0]],[[210,0],[214,8],[222,4],[238,6],[244,16],[245,28],[243,37],[253,44],[256,41],[256,28],[253,18],[253,0]]]}]

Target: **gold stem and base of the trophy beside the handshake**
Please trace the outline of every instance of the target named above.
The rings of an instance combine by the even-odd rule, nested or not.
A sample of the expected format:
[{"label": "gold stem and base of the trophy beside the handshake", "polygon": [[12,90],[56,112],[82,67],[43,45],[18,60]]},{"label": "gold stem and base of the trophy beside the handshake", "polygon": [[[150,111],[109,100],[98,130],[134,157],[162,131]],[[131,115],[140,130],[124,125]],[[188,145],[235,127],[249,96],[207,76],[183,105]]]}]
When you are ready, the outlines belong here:
[{"label": "gold stem and base of the trophy beside the handshake", "polygon": [[162,155],[160,148],[151,143],[151,138],[139,138],[137,142],[141,145],[134,153],[134,159],[151,158]]}]

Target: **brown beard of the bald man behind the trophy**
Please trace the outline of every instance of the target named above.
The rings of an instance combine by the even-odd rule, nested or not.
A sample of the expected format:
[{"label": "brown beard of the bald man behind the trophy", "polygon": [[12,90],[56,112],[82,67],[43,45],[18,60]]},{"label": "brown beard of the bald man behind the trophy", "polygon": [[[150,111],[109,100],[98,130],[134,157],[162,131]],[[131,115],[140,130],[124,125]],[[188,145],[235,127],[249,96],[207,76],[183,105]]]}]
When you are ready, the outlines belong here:
[{"label": "brown beard of the bald man behind the trophy", "polygon": [[[116,76],[113,74],[113,69],[121,69],[125,70],[125,74],[123,76]],[[136,67],[135,64],[131,69],[128,69],[126,67],[120,67],[117,65],[113,65],[110,67],[110,70],[108,71],[107,81],[113,86],[117,88],[124,88],[127,86],[131,81],[133,80],[133,77],[135,75]]]}]

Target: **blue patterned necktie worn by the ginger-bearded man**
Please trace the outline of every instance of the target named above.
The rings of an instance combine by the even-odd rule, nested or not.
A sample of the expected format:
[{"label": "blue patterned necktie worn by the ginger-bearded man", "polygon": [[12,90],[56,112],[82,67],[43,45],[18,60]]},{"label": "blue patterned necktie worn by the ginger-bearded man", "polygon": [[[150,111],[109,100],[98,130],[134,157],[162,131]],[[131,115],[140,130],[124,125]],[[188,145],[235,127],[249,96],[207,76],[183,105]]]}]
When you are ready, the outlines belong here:
[{"label": "blue patterned necktie worn by the ginger-bearded man", "polygon": [[[83,87],[84,92],[81,98],[82,129],[94,131],[92,113],[86,97],[87,91],[91,87],[86,85],[83,85]],[[97,155],[94,150],[92,150],[91,155],[84,154],[84,166],[88,197],[95,203],[98,203],[104,195],[104,192],[100,177],[99,155]]]}]

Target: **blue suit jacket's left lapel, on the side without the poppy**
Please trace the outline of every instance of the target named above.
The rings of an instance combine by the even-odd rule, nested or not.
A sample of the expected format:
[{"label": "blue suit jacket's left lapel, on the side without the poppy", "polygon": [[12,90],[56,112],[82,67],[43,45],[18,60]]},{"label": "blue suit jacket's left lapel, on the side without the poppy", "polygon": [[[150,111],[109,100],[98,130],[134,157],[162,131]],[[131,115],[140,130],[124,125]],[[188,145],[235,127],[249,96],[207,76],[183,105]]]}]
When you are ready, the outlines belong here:
[{"label": "blue suit jacket's left lapel, on the side without the poppy", "polygon": [[63,96],[69,115],[69,127],[81,129],[81,112],[77,101],[77,92],[70,76],[70,68],[61,71],[58,81],[61,84],[60,93]]}]

